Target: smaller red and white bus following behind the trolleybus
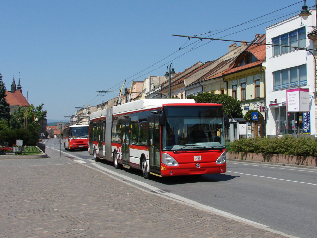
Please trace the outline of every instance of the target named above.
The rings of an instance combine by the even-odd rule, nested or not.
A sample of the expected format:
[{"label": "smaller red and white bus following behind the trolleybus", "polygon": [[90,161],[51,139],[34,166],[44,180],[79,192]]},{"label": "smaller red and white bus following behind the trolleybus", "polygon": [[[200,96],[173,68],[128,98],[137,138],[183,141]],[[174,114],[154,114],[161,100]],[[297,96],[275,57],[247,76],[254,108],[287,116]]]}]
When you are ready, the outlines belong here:
[{"label": "smaller red and white bus following behind the trolleybus", "polygon": [[63,139],[65,150],[88,150],[88,129],[89,125],[82,124],[75,124],[64,128]]}]

